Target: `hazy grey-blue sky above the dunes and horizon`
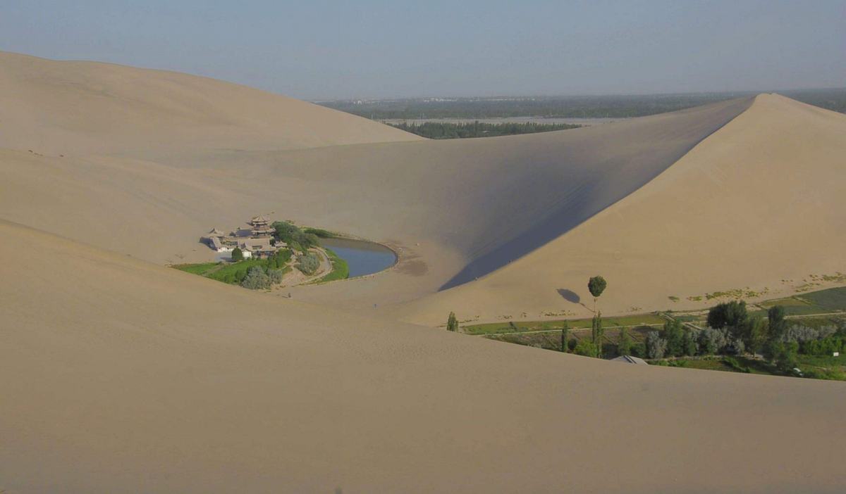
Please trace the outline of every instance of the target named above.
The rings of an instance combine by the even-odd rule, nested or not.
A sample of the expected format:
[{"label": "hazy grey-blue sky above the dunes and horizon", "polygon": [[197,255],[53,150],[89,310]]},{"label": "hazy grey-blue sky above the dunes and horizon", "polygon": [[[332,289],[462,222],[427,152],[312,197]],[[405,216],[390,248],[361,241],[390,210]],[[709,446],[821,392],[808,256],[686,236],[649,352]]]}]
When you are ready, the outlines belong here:
[{"label": "hazy grey-blue sky above the dunes and horizon", "polygon": [[846,0],[0,0],[0,50],[303,99],[846,85]]}]

